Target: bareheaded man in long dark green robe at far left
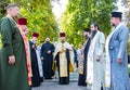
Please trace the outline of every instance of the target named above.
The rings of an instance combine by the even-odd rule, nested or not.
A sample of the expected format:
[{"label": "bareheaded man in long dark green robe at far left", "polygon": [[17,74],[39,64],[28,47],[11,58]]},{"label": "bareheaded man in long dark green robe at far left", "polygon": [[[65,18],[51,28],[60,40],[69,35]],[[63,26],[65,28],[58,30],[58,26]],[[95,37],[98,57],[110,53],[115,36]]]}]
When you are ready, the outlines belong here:
[{"label": "bareheaded man in long dark green robe at far left", "polygon": [[0,90],[29,90],[25,46],[15,22],[20,8],[11,3],[6,7],[6,12],[8,15],[0,21],[2,40]]}]

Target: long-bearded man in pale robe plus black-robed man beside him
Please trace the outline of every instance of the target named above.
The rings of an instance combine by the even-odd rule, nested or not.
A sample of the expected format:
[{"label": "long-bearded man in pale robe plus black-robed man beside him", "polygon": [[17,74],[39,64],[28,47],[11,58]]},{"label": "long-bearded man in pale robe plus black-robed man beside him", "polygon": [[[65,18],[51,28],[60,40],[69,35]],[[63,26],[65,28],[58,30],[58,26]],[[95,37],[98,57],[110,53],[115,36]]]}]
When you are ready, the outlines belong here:
[{"label": "long-bearded man in pale robe plus black-robed man beside him", "polygon": [[105,36],[98,24],[83,29],[87,41],[80,48],[78,86],[90,86],[92,90],[105,90]]}]

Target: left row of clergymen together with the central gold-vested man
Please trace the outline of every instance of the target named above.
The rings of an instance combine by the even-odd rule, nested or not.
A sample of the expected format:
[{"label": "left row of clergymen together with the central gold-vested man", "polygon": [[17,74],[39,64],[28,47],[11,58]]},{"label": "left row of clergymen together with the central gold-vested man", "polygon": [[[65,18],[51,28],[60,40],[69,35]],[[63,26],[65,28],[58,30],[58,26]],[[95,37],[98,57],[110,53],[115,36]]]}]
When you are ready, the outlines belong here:
[{"label": "left row of clergymen together with the central gold-vested man", "polygon": [[52,79],[56,69],[60,83],[68,83],[69,72],[74,70],[74,61],[69,57],[74,53],[65,42],[65,33],[60,34],[62,44],[54,47],[47,37],[46,42],[38,47],[38,33],[32,33],[31,39],[27,39],[27,20],[20,17],[20,7],[11,3],[6,13],[0,20],[0,90],[30,90],[39,87],[43,78]]}]

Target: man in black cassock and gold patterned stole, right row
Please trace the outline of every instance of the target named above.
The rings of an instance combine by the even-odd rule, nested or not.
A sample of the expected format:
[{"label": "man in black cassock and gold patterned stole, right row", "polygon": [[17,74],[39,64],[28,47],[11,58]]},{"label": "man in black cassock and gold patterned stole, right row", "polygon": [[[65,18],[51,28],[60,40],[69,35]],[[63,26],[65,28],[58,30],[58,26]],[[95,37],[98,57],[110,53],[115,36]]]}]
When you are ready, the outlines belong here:
[{"label": "man in black cassock and gold patterned stole, right row", "polygon": [[83,36],[87,38],[86,42],[82,46],[82,53],[79,57],[79,78],[78,78],[78,86],[87,86],[86,78],[87,78],[87,56],[88,50],[90,46],[90,29],[83,29]]}]

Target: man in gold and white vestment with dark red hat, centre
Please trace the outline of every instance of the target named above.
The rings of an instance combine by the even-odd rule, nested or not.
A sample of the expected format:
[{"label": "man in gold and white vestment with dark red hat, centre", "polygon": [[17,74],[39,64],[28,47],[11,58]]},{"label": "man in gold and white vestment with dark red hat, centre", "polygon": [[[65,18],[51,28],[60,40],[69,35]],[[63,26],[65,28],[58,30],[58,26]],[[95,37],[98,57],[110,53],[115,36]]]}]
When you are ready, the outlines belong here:
[{"label": "man in gold and white vestment with dark red hat, centre", "polygon": [[74,51],[68,42],[65,41],[65,33],[60,34],[61,42],[57,43],[54,52],[54,68],[58,72],[58,83],[69,83],[69,73],[74,72]]}]

